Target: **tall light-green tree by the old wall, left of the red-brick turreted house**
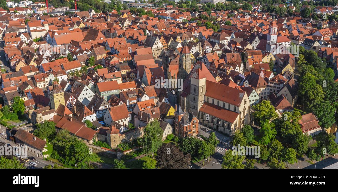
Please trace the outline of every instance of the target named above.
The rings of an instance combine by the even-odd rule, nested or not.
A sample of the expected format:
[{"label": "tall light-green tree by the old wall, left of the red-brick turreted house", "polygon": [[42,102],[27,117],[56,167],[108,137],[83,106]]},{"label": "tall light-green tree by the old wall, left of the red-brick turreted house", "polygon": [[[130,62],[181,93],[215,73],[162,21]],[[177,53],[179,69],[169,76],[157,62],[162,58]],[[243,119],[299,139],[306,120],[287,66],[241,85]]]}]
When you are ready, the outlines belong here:
[{"label": "tall light-green tree by the old wall, left of the red-brick turreted house", "polygon": [[153,153],[156,153],[157,149],[162,145],[163,131],[160,127],[160,122],[158,120],[151,121],[150,124],[147,124],[143,129],[143,132],[143,149],[145,153],[151,153],[154,159]]}]

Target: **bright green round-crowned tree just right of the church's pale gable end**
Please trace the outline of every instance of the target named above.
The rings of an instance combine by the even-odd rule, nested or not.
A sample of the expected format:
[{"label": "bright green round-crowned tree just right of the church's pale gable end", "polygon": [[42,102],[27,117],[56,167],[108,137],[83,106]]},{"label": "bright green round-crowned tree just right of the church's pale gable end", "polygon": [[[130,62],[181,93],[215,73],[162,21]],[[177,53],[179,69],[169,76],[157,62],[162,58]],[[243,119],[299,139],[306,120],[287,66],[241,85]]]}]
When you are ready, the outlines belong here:
[{"label": "bright green round-crowned tree just right of the church's pale gable end", "polygon": [[275,112],[274,107],[267,100],[263,100],[261,103],[254,105],[252,108],[254,108],[255,110],[255,121],[259,124],[261,123],[261,121],[274,119],[278,116]]}]

